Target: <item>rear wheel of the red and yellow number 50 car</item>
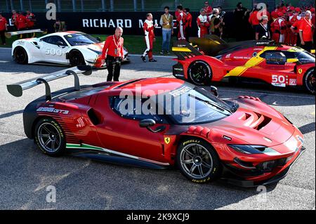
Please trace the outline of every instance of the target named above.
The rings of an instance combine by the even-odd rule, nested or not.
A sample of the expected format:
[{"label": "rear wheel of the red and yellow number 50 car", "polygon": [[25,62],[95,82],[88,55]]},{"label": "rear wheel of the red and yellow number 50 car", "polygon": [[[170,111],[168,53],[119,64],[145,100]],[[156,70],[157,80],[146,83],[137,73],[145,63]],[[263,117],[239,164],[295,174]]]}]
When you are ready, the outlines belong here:
[{"label": "rear wheel of the red and yellow number 50 car", "polygon": [[192,62],[187,70],[187,77],[192,84],[198,86],[210,85],[212,79],[211,67],[202,60]]}]

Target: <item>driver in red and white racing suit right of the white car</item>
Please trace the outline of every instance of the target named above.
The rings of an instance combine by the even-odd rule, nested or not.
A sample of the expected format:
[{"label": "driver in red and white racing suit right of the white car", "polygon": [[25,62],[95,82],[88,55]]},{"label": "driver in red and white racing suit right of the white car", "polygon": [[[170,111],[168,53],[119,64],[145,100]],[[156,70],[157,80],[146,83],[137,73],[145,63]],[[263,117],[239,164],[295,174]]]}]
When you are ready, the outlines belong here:
[{"label": "driver in red and white racing suit right of the white car", "polygon": [[154,41],[156,41],[156,38],[154,37],[155,27],[157,27],[157,24],[154,25],[154,23],[152,22],[152,13],[148,13],[143,25],[143,29],[145,32],[145,43],[147,47],[143,55],[140,56],[143,62],[146,62],[146,55],[148,55],[149,62],[157,62],[157,60],[154,60],[154,58],[152,58],[152,48],[154,47]]}]

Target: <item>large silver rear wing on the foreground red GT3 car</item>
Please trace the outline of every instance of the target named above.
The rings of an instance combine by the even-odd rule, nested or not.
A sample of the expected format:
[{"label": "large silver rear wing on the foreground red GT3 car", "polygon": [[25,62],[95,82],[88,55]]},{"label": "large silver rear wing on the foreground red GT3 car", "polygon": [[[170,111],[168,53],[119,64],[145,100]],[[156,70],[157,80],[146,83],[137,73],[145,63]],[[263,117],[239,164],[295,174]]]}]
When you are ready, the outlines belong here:
[{"label": "large silver rear wing on the foreground red GT3 car", "polygon": [[7,85],[8,92],[11,95],[19,97],[22,95],[23,91],[38,86],[39,84],[45,84],[46,91],[46,100],[51,100],[51,88],[48,85],[49,81],[53,81],[55,79],[60,79],[63,77],[67,77],[70,75],[74,76],[74,90],[80,90],[79,78],[77,74],[90,75],[92,73],[92,67],[88,65],[71,67],[66,70],[61,70],[59,72],[54,72],[51,74],[45,74],[41,77],[27,79],[25,81],[20,81],[16,84]]}]

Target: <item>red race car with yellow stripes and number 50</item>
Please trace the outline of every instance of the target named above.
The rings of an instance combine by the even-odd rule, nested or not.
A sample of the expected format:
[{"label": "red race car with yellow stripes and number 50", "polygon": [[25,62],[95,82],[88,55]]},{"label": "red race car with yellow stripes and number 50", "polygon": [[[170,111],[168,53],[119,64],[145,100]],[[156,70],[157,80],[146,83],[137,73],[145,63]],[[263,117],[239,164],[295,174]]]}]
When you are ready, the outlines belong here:
[{"label": "red race car with yellow stripes and number 50", "polygon": [[[315,55],[272,41],[226,43],[217,36],[177,41],[173,75],[196,85],[212,81],[263,81],[272,86],[303,86],[315,94]],[[198,49],[197,49],[198,48]]]}]

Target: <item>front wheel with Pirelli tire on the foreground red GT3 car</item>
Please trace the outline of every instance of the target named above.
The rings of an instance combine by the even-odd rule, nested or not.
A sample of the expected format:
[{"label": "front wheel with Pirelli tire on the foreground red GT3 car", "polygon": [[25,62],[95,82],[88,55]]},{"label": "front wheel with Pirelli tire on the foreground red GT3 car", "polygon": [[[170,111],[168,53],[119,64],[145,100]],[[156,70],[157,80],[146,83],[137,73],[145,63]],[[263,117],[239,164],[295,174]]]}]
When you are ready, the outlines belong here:
[{"label": "front wheel with Pirelli tire on the foreground red GT3 car", "polygon": [[213,147],[201,138],[186,138],[178,145],[176,164],[180,172],[193,183],[216,180],[222,171],[220,159]]}]

